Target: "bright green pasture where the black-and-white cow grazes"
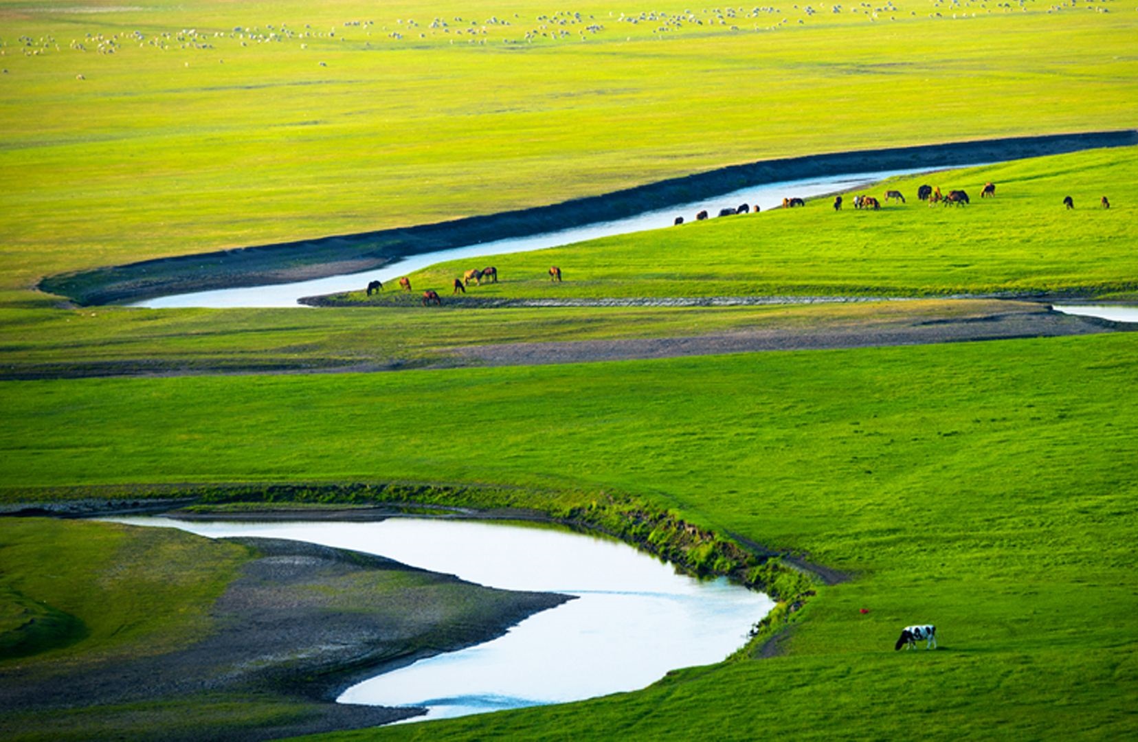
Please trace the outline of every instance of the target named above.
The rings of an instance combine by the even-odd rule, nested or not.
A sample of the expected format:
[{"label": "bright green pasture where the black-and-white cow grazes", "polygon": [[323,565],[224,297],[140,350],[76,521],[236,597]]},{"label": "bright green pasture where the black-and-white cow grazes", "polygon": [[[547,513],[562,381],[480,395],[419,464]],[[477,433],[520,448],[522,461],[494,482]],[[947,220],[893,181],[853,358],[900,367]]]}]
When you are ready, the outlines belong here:
[{"label": "bright green pasture where the black-and-white cow grazes", "polygon": [[[561,503],[616,489],[855,576],[808,604],[784,657],[423,734],[813,737],[836,725],[858,739],[1111,737],[1132,731],[1138,701],[1136,362],[1135,337],[1121,335],[8,382],[0,478],[484,483],[520,486],[511,502],[537,506],[544,496],[527,492]],[[917,621],[934,621],[945,649],[894,653],[899,628]]]}]

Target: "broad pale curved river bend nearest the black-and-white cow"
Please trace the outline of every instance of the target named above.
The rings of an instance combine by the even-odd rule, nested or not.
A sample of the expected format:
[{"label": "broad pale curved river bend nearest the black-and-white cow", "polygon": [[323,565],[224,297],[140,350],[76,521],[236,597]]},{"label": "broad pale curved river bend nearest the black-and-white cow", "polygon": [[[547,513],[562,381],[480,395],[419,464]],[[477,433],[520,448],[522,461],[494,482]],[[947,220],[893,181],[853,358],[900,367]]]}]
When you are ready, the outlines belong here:
[{"label": "broad pale curved river bend nearest the black-and-white cow", "polygon": [[761,593],[725,579],[679,575],[624,543],[552,527],[423,518],[112,520],[173,526],[213,538],[292,538],[380,554],[490,587],[577,596],[527,618],[502,637],[378,675],[338,699],[428,709],[412,722],[641,689],[670,669],[723,660],[774,607]]}]

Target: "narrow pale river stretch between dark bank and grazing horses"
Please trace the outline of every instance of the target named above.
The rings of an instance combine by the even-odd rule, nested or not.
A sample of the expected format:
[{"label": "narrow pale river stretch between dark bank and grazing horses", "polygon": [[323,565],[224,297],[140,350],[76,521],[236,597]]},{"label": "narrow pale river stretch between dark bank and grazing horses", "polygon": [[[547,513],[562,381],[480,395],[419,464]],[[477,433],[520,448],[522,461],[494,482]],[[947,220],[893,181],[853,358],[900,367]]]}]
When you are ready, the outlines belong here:
[{"label": "narrow pale river stretch between dark bank and grazing horses", "polygon": [[[974,166],[974,165],[973,165]],[[502,255],[508,253],[527,253],[547,247],[560,247],[584,240],[600,237],[611,237],[613,234],[628,234],[652,229],[670,226],[677,215],[685,220],[695,219],[695,214],[706,209],[712,217],[721,208],[734,208],[740,204],[749,204],[752,207],[758,204],[762,209],[769,209],[782,204],[784,197],[795,196],[801,198],[813,198],[825,193],[848,192],[866,188],[877,181],[898,175],[912,175],[915,173],[930,172],[931,168],[922,167],[915,170],[890,170],[866,173],[852,173],[846,175],[833,175],[828,178],[813,178],[806,180],[791,180],[777,183],[767,183],[732,191],[720,196],[704,198],[687,204],[677,204],[667,208],[654,209],[630,216],[628,219],[611,222],[599,222],[575,229],[567,229],[543,234],[531,234],[479,245],[469,245],[448,250],[435,253],[423,253],[413,255],[402,261],[397,261],[382,269],[365,271],[363,273],[349,273],[345,275],[332,275],[311,281],[298,281],[295,283],[277,283],[272,286],[254,286],[248,288],[218,289],[215,291],[198,291],[195,294],[179,294],[147,299],[132,304],[131,306],[142,306],[150,308],[165,307],[273,307],[273,306],[303,306],[297,304],[297,299],[306,296],[320,296],[324,294],[336,294],[339,291],[360,290],[372,279],[379,279],[385,283],[394,281],[401,275],[406,275],[414,271],[424,269],[435,263],[461,258],[486,257],[489,255]],[[910,193],[913,198],[916,193]]]}]

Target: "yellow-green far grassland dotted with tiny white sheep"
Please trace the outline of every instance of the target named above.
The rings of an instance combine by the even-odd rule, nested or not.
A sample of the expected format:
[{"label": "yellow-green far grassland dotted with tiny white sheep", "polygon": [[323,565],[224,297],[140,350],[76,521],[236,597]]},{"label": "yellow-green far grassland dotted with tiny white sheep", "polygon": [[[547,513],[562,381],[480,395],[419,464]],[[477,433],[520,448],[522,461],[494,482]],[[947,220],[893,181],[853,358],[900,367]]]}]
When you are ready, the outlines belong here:
[{"label": "yellow-green far grassland dotted with tiny white sheep", "polygon": [[[517,0],[5,2],[0,298],[35,302],[26,289],[59,271],[490,213],[762,157],[1133,125],[1138,18],[1119,3],[906,1],[876,19],[861,6],[774,8],[723,24],[694,9],[703,23],[677,28],[682,6],[634,25],[620,14],[650,7],[566,8],[578,23]],[[423,38],[388,35],[407,19]],[[451,44],[470,19],[478,33],[462,36],[478,43]],[[525,39],[561,31],[571,38]],[[114,53],[100,53],[108,41]]]}]

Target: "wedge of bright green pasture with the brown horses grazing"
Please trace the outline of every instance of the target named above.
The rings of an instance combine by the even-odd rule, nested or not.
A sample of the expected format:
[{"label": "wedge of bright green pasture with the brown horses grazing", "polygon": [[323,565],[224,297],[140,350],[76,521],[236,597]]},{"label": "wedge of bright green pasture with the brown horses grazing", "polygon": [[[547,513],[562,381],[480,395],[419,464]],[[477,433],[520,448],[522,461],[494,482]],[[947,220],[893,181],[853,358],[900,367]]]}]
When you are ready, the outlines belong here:
[{"label": "wedge of bright green pasture with the brown horses grazing", "polygon": [[[643,297],[951,294],[1089,295],[1138,289],[1138,149],[1072,155],[887,181],[907,201],[855,211],[852,193],[805,208],[742,214],[562,248],[440,263],[411,275],[450,294],[463,269],[493,263],[501,281],[470,296]],[[981,199],[987,182],[996,197]],[[972,204],[929,207],[922,183],[964,189]],[[1063,197],[1075,208],[1067,211]],[[1103,209],[1107,195],[1112,207]],[[793,196],[787,192],[786,196]],[[694,214],[684,215],[688,221]],[[564,281],[551,283],[550,265]],[[363,291],[353,298],[366,300]],[[379,302],[398,299],[387,292]]]}]

